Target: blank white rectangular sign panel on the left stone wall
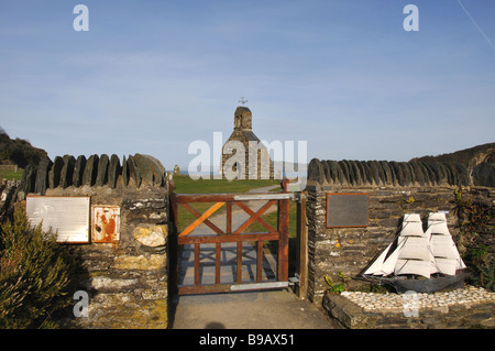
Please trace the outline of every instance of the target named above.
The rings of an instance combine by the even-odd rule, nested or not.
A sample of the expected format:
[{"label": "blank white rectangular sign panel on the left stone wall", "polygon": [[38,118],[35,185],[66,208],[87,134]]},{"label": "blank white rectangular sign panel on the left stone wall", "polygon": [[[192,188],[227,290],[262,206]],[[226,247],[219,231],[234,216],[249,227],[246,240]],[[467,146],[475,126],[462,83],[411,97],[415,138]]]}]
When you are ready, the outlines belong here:
[{"label": "blank white rectangular sign panel on the left stone wall", "polygon": [[89,197],[28,196],[25,211],[32,226],[57,233],[57,242],[89,242]]}]

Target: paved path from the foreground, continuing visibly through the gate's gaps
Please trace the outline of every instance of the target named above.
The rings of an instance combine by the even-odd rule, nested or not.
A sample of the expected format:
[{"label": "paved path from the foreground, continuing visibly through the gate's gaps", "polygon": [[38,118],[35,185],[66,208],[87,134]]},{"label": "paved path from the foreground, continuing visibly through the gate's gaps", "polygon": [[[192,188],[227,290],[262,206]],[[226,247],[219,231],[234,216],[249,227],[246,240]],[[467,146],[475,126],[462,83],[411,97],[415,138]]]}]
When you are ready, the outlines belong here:
[{"label": "paved path from the foreground, continuing visibly through the gate's gaps", "polygon": [[[256,188],[251,193],[265,193],[273,187]],[[265,201],[250,201],[249,206],[256,211]],[[272,208],[272,211],[276,207]],[[242,209],[232,211],[232,228],[238,228],[248,219]],[[219,228],[226,227],[226,215],[211,219]],[[201,228],[201,229],[200,229]],[[201,224],[201,234],[212,231]],[[251,250],[250,250],[251,249]],[[179,282],[188,284],[193,279],[193,248],[184,248],[180,255]],[[235,282],[235,248],[222,245],[221,281]],[[213,254],[212,254],[213,253]],[[215,275],[215,250],[201,245],[201,282],[208,283]],[[211,261],[211,262],[209,262]],[[233,261],[233,262],[232,262]],[[264,278],[274,276],[274,257],[265,251]],[[243,282],[252,281],[255,272],[255,252],[249,243],[243,245]],[[332,329],[326,311],[317,308],[308,300],[301,300],[290,288],[278,290],[258,290],[228,294],[176,296],[173,301],[173,314],[169,325],[173,329]]]}]

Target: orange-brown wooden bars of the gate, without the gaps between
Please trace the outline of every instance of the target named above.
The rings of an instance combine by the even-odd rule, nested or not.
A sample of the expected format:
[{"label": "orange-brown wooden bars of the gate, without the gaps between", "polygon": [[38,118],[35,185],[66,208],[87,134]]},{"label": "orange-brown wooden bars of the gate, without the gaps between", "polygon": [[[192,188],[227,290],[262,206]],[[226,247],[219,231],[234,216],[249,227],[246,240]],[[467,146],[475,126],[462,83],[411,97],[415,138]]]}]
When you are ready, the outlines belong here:
[{"label": "orange-brown wooden bars of the gate, without the gaps between", "polygon": [[[282,288],[288,286],[288,220],[289,220],[289,200],[290,194],[287,191],[288,180],[282,182],[282,190],[279,193],[264,194],[212,194],[212,195],[178,195],[174,191],[174,185],[170,186],[170,217],[173,219],[172,238],[169,244],[175,245],[176,250],[170,250],[170,271],[169,284],[176,286],[178,295],[202,294],[202,293],[221,293],[231,290],[251,290],[266,288]],[[252,210],[245,202],[253,200],[266,201],[257,211]],[[206,212],[199,213],[190,206],[194,202],[215,202]],[[196,217],[182,232],[177,232],[177,207],[182,206]],[[262,219],[273,206],[277,206],[278,223],[277,228],[273,228]],[[226,207],[226,229],[222,230],[216,226],[210,218],[220,208]],[[239,227],[232,228],[233,208],[238,207],[249,215],[249,218]],[[265,232],[244,232],[254,222],[260,223]],[[201,224],[208,226],[215,234],[199,233],[195,235],[195,230]],[[221,227],[221,226],[220,226]],[[264,260],[264,241],[277,242],[276,259],[276,277],[270,279],[267,276],[263,278],[263,260]],[[255,278],[250,282],[242,279],[242,259],[243,244],[253,243],[255,251]],[[235,243],[237,257],[234,265],[231,267],[235,272],[234,282],[221,282],[221,255],[222,244]],[[182,264],[178,252],[185,245],[194,245],[194,284],[179,285],[178,271]],[[201,245],[211,246],[215,251],[215,283],[201,284],[200,252]],[[253,273],[254,275],[254,273]]]}]

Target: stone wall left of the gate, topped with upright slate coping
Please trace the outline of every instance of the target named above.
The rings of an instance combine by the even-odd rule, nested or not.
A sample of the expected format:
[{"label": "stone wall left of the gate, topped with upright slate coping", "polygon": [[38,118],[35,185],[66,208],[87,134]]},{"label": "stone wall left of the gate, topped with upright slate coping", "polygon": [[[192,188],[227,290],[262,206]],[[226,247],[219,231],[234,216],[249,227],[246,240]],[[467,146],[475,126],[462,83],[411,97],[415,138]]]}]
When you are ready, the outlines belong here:
[{"label": "stone wall left of the gate, topped with upright slate coping", "polygon": [[81,259],[75,290],[89,294],[89,317],[67,318],[65,327],[167,328],[168,196],[158,161],[55,157],[25,171],[16,196],[30,194],[89,196],[91,205],[120,207],[118,241],[67,244]]}]

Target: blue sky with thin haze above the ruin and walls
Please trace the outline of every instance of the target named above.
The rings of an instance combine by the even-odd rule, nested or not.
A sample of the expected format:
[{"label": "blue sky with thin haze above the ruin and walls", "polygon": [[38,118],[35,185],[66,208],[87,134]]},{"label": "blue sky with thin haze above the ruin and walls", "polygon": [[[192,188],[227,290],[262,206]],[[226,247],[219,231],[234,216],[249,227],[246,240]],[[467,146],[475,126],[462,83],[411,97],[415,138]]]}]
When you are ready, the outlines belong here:
[{"label": "blue sky with thin haze above the ruin and walls", "polygon": [[256,135],[307,141],[308,162],[453,152],[495,141],[494,17],[488,0],[1,0],[0,125],[52,160],[172,169],[227,140],[245,97]]}]

